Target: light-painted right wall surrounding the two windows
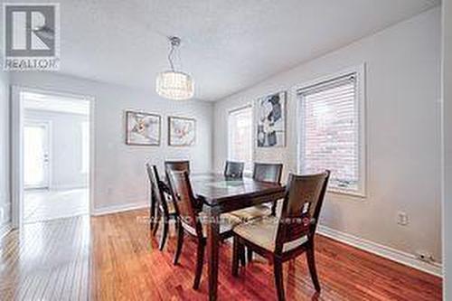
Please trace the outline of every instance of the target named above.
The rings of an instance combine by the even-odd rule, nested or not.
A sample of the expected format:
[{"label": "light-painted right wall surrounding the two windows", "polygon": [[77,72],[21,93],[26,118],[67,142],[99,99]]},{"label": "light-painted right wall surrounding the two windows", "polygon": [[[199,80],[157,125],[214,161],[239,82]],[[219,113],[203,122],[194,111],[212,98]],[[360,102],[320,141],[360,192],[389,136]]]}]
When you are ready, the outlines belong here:
[{"label": "light-painted right wall surrounding the two windows", "polygon": [[[221,171],[227,158],[228,110],[287,89],[287,147],[255,149],[255,161],[282,162],[285,176],[295,172],[294,89],[363,62],[367,95],[367,197],[329,194],[321,223],[410,254],[427,251],[440,261],[438,7],[216,102],[213,166]],[[408,213],[408,226],[397,224],[399,211]]]}]

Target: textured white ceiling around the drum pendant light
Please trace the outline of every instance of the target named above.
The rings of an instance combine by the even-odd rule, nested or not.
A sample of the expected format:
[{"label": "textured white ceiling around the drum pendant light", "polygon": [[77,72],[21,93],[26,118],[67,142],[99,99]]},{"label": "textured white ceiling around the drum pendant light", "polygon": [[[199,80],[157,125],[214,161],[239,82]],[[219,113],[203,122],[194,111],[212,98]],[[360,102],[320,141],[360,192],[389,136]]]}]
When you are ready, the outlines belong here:
[{"label": "textured white ceiling around the drum pendant light", "polygon": [[195,98],[206,100],[221,99],[439,4],[439,0],[59,2],[61,72],[155,89],[156,73],[168,68],[165,36],[178,35],[183,39],[178,66],[193,75]]}]

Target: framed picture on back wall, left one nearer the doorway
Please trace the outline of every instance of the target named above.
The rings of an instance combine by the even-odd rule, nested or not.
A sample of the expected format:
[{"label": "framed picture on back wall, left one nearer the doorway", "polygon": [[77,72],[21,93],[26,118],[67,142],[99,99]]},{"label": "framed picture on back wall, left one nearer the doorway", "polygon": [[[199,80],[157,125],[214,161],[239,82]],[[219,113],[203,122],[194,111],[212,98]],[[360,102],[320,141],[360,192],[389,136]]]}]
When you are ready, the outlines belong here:
[{"label": "framed picture on back wall, left one nearer the doorway", "polygon": [[160,146],[162,121],[159,115],[126,111],[126,144]]}]

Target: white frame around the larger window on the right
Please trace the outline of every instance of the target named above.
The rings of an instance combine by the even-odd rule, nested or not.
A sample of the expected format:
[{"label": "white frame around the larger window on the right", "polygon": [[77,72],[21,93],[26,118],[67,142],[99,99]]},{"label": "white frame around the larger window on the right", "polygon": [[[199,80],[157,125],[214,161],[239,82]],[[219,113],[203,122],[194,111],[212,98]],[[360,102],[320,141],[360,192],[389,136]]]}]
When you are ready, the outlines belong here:
[{"label": "white frame around the larger window on the right", "polygon": [[336,187],[332,187],[328,189],[328,193],[339,193],[345,195],[356,196],[359,198],[365,198],[367,195],[367,157],[366,157],[366,100],[365,100],[365,64],[361,64],[359,66],[346,69],[344,71],[340,71],[322,78],[318,78],[316,80],[311,80],[302,85],[296,87],[294,91],[295,98],[297,99],[297,173],[303,174],[302,168],[302,153],[303,153],[303,106],[300,97],[298,96],[298,91],[302,89],[306,89],[311,86],[315,86],[321,84],[325,81],[335,80],[341,77],[344,77],[349,74],[356,74],[356,97],[358,110],[358,190],[350,191],[343,190]]}]

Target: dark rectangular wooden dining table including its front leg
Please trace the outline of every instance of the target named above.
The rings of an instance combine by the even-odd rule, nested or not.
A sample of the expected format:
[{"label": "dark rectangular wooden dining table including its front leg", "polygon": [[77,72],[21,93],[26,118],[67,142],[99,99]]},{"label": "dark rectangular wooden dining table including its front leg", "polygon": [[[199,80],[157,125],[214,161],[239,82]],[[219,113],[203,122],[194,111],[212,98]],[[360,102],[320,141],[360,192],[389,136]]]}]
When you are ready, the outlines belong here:
[{"label": "dark rectangular wooden dining table including its front leg", "polygon": [[217,300],[221,213],[282,199],[285,187],[251,177],[232,178],[223,174],[191,174],[190,179],[193,193],[202,201],[202,211],[206,213],[209,299]]}]

